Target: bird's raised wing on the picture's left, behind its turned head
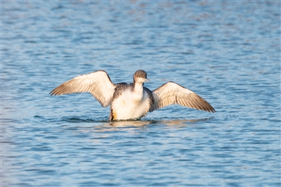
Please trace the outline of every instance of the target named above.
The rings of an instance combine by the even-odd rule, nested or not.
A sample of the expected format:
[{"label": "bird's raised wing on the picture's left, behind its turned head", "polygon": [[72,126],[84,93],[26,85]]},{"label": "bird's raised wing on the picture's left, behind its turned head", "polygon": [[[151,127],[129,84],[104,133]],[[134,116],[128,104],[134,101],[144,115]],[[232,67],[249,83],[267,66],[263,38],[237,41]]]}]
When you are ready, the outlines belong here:
[{"label": "bird's raised wing on the picture's left, behind its turned head", "polygon": [[63,95],[90,92],[103,107],[106,107],[112,101],[115,88],[116,85],[112,83],[107,73],[103,70],[99,70],[72,78],[70,81],[66,81],[53,89],[50,94]]}]

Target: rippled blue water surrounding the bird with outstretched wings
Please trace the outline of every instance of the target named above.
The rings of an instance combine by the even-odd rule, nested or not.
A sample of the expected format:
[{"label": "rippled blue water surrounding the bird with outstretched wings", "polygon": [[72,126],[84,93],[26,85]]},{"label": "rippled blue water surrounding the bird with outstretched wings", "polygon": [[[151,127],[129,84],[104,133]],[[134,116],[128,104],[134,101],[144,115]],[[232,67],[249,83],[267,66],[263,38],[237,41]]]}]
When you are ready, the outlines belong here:
[{"label": "rippled blue water surrounding the bird with outstretched wings", "polygon": [[[280,1],[2,1],[1,186],[280,186]],[[144,69],[217,113],[169,106],[109,123],[104,69]]]}]

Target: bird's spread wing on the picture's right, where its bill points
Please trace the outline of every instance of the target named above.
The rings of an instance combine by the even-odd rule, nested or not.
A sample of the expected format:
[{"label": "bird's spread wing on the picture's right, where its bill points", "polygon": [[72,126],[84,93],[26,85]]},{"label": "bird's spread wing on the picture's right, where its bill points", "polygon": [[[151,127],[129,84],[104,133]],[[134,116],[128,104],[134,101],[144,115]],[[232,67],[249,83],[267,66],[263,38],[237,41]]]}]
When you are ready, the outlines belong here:
[{"label": "bird's spread wing on the picture's right, where its bill points", "polygon": [[181,104],[193,109],[215,112],[215,109],[195,92],[174,82],[168,82],[152,92],[155,103],[150,106],[150,112],[170,104]]}]

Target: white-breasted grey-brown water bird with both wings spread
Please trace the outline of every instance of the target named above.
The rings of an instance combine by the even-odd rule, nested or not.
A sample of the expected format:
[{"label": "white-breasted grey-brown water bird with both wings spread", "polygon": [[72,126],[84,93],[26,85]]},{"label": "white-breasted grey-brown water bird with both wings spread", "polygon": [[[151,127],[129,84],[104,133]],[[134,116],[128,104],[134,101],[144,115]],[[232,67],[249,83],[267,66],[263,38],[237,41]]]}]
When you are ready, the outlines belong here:
[{"label": "white-breasted grey-brown water bird with both wings spread", "polygon": [[148,74],[139,69],[133,74],[133,83],[112,83],[104,70],[82,74],[62,83],[50,95],[90,92],[101,106],[110,106],[109,120],[140,119],[148,112],[171,104],[215,113],[215,109],[202,97],[187,88],[169,81],[150,91],[144,83]]}]

